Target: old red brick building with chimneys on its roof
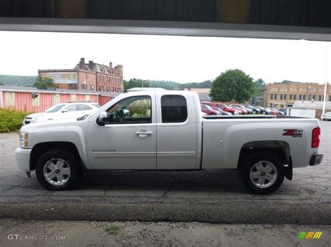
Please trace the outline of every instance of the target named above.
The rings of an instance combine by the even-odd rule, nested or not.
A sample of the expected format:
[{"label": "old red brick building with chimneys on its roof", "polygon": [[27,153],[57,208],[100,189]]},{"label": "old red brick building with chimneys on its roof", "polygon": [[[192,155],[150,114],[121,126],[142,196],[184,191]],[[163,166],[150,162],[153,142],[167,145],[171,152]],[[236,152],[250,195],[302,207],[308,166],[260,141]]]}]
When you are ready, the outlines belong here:
[{"label": "old red brick building with chimneys on its roof", "polygon": [[123,93],[123,65],[112,67],[80,58],[72,70],[38,70],[39,77],[49,77],[60,89]]}]

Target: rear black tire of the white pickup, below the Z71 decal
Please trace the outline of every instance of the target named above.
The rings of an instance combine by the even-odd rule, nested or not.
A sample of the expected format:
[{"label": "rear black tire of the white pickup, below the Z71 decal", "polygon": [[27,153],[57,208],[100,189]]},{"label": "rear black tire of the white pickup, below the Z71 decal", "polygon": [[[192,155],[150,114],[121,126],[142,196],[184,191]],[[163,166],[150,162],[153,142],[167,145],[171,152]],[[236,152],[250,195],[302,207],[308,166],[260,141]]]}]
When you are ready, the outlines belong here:
[{"label": "rear black tire of the white pickup, below the Z71 decal", "polygon": [[[262,166],[262,171],[257,169],[258,166]],[[272,170],[268,172],[267,168],[272,168]],[[252,193],[258,195],[265,195],[276,191],[284,181],[284,167],[279,158],[272,152],[254,152],[253,154],[249,154],[248,157],[243,157],[240,162],[239,172],[244,186]],[[254,177],[253,173],[258,175],[258,177],[251,179],[251,175]],[[270,180],[269,177],[274,178]],[[262,183],[258,184],[260,179],[267,182],[265,187],[263,187]]]}]

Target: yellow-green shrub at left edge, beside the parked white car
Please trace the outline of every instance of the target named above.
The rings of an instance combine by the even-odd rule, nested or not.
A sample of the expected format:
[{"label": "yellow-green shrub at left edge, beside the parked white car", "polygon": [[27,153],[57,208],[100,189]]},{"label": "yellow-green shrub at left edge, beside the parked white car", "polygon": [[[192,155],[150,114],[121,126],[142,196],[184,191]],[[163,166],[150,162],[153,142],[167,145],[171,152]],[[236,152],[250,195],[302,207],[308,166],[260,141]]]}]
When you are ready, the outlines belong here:
[{"label": "yellow-green shrub at left edge, beside the parked white car", "polygon": [[0,132],[13,132],[19,130],[23,120],[30,113],[12,109],[0,109]]}]

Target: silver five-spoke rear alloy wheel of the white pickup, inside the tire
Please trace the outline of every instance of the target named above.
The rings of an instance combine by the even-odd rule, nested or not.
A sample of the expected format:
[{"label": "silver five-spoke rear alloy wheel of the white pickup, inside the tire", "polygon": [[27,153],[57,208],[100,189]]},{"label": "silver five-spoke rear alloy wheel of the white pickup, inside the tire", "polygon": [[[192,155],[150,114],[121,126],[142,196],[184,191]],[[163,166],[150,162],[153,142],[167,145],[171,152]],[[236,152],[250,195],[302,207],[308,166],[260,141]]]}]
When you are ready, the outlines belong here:
[{"label": "silver five-spoke rear alloy wheel of the white pickup, inside the tire", "polygon": [[270,161],[259,161],[249,172],[251,182],[258,188],[268,188],[277,180],[277,168]]}]

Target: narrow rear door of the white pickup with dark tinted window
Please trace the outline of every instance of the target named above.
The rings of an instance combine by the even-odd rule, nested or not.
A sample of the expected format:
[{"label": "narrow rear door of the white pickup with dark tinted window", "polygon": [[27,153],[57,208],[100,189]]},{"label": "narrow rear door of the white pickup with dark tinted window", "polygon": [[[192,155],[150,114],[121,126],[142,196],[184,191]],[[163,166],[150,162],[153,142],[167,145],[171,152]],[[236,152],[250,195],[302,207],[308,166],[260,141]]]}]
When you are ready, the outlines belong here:
[{"label": "narrow rear door of the white pickup with dark tinted window", "polygon": [[193,102],[193,96],[189,94],[156,93],[158,169],[196,168],[196,108],[194,104],[188,107],[189,102]]}]

